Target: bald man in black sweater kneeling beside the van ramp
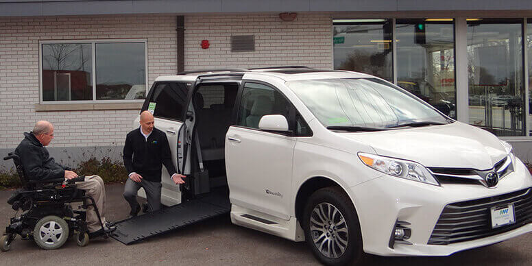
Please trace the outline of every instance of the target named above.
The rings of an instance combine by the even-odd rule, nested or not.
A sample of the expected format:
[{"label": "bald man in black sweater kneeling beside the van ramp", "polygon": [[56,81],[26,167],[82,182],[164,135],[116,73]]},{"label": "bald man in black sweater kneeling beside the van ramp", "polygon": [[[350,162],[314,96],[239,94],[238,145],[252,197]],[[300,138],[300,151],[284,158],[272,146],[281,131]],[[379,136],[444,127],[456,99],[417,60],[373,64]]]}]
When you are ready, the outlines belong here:
[{"label": "bald man in black sweater kneeling beside the van ramp", "polygon": [[165,165],[174,183],[184,184],[182,178],[185,176],[178,174],[173,166],[167,136],[154,128],[154,116],[149,111],[141,113],[141,126],[126,136],[123,160],[129,173],[124,197],[131,207],[130,217],[141,211],[141,206],[136,201],[136,193],[141,187],[146,191],[149,210],[160,209],[162,165]]}]

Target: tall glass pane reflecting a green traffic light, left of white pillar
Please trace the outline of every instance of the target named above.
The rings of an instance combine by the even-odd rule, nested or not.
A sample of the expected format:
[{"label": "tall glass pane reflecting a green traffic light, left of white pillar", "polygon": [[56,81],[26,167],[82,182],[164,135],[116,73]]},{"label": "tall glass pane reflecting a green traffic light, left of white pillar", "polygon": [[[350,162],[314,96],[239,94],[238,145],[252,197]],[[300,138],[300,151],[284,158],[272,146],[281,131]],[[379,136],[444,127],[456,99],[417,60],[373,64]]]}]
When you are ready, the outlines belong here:
[{"label": "tall glass pane reflecting a green traffic light, left of white pillar", "polygon": [[452,19],[396,20],[397,85],[456,118]]}]

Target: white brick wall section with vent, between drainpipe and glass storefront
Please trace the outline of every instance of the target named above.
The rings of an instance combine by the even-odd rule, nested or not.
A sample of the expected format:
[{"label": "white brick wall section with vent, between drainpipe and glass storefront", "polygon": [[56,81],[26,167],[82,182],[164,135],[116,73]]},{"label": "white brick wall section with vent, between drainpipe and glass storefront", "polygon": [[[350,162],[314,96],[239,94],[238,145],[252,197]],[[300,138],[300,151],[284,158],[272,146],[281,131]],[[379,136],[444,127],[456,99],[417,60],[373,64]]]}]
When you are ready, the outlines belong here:
[{"label": "white brick wall section with vent, between drainpipe and glass storefront", "polygon": [[[185,17],[185,69],[306,65],[333,68],[330,16],[298,14],[281,21],[278,14]],[[231,35],[254,35],[255,51],[231,52]],[[210,47],[202,49],[202,40]]]}]

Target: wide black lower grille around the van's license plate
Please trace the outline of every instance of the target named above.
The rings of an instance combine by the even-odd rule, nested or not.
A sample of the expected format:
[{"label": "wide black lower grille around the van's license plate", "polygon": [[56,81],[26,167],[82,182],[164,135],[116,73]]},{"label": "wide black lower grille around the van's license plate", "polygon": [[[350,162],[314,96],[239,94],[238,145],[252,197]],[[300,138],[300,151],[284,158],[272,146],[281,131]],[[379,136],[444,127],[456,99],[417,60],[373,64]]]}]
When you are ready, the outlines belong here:
[{"label": "wide black lower grille around the van's license plate", "polygon": [[[513,204],[516,223],[492,228],[490,208]],[[428,245],[448,245],[489,237],[532,222],[532,189],[448,204],[434,227]]]}]

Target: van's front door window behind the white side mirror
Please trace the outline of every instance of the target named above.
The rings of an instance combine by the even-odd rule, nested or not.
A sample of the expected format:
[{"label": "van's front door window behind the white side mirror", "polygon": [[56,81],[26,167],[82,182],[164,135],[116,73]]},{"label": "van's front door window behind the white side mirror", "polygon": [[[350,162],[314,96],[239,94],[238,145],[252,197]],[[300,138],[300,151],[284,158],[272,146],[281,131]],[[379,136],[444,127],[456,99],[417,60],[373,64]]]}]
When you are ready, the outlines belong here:
[{"label": "van's front door window behind the white side mirror", "polygon": [[282,114],[289,119],[291,104],[277,90],[263,84],[247,82],[242,91],[237,125],[258,128],[266,114]]}]

